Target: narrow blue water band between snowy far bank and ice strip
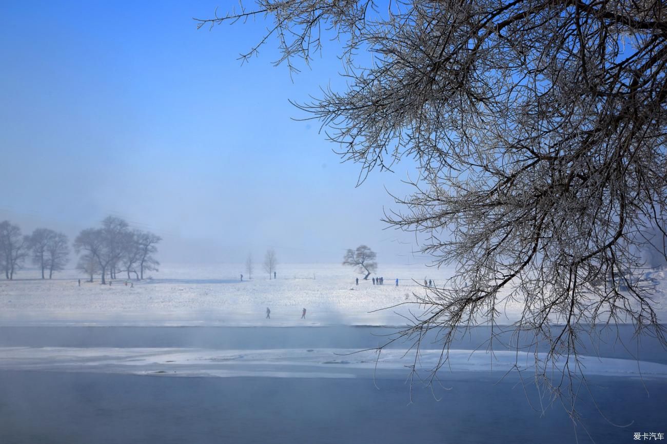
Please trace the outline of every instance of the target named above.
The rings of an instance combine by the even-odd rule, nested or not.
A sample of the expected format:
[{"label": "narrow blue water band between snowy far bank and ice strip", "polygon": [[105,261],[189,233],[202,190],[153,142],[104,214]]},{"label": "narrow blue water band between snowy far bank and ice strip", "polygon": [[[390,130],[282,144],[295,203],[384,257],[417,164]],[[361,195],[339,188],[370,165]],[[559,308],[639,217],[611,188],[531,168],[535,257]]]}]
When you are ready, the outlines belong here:
[{"label": "narrow blue water band between snowy far bank and ice strip", "polygon": [[[554,327],[557,329],[558,327]],[[197,347],[206,349],[299,349],[308,347],[331,349],[370,349],[392,339],[398,329],[391,327],[1,327],[0,347]],[[592,343],[581,337],[586,355],[632,359],[667,364],[665,351],[654,337],[634,337],[630,325],[616,331],[600,330]],[[512,331],[498,334],[495,350],[513,350],[516,340]],[[460,335],[452,349],[486,349],[489,327],[475,327]],[[520,336],[522,351],[530,352],[533,338]],[[394,349],[408,348],[410,342],[398,341]],[[481,346],[481,347],[480,347]],[[424,349],[440,349],[433,337],[422,342]],[[540,348],[540,351],[543,351]]]}]

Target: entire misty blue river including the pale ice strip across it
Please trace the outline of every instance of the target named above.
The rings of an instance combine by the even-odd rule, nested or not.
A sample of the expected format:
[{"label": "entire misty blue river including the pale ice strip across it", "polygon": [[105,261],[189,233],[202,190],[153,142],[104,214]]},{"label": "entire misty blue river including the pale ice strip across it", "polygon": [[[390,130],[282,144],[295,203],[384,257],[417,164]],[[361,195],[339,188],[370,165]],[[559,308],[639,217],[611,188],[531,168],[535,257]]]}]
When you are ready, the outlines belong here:
[{"label": "entire misty blue river including the pale ice strip across it", "polygon": [[[456,343],[453,370],[410,403],[406,344],[376,347],[380,327],[1,327],[0,443],[568,443],[575,427],[556,401],[544,415],[534,385],[502,379],[510,352]],[[622,336],[632,331],[622,331]],[[642,342],[637,362],[612,343],[588,358],[578,409],[598,443],[664,433],[664,351]],[[404,347],[404,348],[402,348]],[[430,344],[424,361],[437,355]],[[466,350],[468,349],[468,350]],[[627,357],[627,354],[626,354]],[[182,376],[182,377],[179,377]],[[530,375],[528,375],[530,377]],[[502,380],[501,380],[502,379]],[[647,393],[648,391],[648,393]],[[434,399],[438,397],[440,401]],[[530,403],[529,403],[530,401]],[[532,407],[531,407],[532,403]],[[580,443],[590,438],[576,427]]]}]

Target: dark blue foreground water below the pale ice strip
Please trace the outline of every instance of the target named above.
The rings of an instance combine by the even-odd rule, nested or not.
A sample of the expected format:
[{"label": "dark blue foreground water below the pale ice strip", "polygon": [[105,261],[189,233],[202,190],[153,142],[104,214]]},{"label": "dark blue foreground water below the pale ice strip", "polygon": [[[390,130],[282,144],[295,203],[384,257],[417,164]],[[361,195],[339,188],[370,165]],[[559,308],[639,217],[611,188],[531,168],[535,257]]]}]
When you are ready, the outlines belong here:
[{"label": "dark blue foreground water below the pale ice strip", "polygon": [[[597,443],[664,431],[667,384],[598,378],[580,411]],[[560,404],[533,411],[515,381],[447,379],[435,401],[403,379],[159,378],[0,372],[0,442],[22,443],[574,443]],[[534,389],[528,388],[534,398]],[[622,401],[620,401],[622,400]],[[577,427],[580,443],[590,443]]]}]

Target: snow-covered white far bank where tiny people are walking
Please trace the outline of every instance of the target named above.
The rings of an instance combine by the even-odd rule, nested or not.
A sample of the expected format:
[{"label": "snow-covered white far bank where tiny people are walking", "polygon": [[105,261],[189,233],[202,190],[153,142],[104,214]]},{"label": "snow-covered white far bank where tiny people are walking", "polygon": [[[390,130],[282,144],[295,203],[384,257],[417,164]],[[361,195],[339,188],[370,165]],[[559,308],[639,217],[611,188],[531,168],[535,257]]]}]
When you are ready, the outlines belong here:
[{"label": "snow-covered white far bank where tiny people are walking", "polygon": [[[75,270],[43,280],[36,269],[25,269],[13,281],[0,281],[0,325],[405,325],[408,309],[420,313],[420,307],[396,305],[424,294],[424,279],[442,286],[451,275],[450,269],[424,264],[380,264],[374,276],[383,276],[384,285],[372,285],[340,264],[279,264],[277,279],[257,271],[250,280],[243,264],[165,264],[143,281],[119,274],[121,279],[103,286]],[[664,322],[667,273],[654,272],[652,279],[659,282],[654,300]],[[271,319],[265,319],[266,307]],[[306,319],[300,319],[303,308]],[[512,323],[522,305],[510,301],[503,308],[498,323]]]}]

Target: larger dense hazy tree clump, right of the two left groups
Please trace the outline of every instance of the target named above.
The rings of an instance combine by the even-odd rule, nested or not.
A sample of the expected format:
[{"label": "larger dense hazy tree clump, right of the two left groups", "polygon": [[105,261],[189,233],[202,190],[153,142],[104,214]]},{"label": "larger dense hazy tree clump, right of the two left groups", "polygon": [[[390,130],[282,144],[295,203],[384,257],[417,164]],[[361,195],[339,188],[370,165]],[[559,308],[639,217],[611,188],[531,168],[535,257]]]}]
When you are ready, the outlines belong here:
[{"label": "larger dense hazy tree clump, right of the two left groups", "polygon": [[127,279],[143,279],[145,271],[157,271],[160,264],[153,255],[157,253],[157,243],[162,238],[141,230],[131,230],[119,217],[109,216],[102,221],[101,228],[82,230],[74,239],[74,249],[79,257],[77,269],[83,271],[93,281],[101,275],[116,279],[118,273],[127,273]]}]

